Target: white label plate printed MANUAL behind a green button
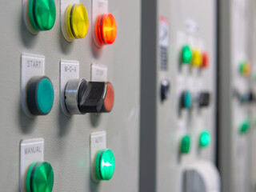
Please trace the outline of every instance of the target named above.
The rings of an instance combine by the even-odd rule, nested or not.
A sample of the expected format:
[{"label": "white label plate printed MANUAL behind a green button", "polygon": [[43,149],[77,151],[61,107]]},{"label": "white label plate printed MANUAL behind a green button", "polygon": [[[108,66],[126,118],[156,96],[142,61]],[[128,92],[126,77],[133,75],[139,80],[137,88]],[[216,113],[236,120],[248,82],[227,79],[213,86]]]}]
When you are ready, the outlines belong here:
[{"label": "white label plate printed MANUAL behind a green button", "polygon": [[20,191],[25,192],[26,171],[32,162],[43,162],[44,139],[33,138],[20,143]]}]

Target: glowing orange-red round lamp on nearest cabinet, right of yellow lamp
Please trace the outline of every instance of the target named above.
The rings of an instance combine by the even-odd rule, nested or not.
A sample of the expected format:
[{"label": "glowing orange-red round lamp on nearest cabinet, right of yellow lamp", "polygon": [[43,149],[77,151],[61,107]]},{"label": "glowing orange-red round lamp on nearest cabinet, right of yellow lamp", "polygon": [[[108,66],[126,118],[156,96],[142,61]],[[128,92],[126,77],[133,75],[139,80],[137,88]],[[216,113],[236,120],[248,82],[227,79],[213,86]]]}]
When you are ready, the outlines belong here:
[{"label": "glowing orange-red round lamp on nearest cabinet, right of yellow lamp", "polygon": [[109,45],[117,36],[117,23],[113,14],[101,14],[95,25],[95,33],[98,46]]}]

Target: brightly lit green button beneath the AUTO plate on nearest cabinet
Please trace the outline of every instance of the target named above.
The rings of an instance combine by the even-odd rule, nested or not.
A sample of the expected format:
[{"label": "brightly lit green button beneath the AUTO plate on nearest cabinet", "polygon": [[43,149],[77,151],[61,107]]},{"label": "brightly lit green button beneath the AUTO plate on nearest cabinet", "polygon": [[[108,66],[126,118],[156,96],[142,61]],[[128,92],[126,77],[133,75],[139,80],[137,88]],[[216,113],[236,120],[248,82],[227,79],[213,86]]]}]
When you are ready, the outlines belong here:
[{"label": "brightly lit green button beneath the AUTO plate on nearest cabinet", "polygon": [[95,173],[98,180],[110,180],[114,174],[114,165],[112,150],[98,150],[95,159]]}]

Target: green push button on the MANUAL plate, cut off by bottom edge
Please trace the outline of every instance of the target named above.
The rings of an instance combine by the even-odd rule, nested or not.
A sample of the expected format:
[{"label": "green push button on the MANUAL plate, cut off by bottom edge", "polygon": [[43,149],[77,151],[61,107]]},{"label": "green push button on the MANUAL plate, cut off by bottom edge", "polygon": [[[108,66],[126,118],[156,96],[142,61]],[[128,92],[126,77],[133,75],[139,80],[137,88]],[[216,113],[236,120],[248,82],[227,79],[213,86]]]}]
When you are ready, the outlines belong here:
[{"label": "green push button on the MANUAL plate, cut off by bottom edge", "polygon": [[54,170],[48,162],[33,162],[26,173],[26,192],[51,192]]}]

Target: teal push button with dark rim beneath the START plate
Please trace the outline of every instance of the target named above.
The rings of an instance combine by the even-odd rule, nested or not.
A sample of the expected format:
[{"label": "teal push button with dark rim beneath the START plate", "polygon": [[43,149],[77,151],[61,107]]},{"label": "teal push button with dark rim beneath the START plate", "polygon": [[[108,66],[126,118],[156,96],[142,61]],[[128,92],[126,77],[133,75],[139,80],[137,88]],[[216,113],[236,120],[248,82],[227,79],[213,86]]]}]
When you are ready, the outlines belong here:
[{"label": "teal push button with dark rim beneath the START plate", "polygon": [[26,102],[31,114],[49,114],[54,104],[54,87],[50,78],[46,76],[30,78],[27,84]]}]

